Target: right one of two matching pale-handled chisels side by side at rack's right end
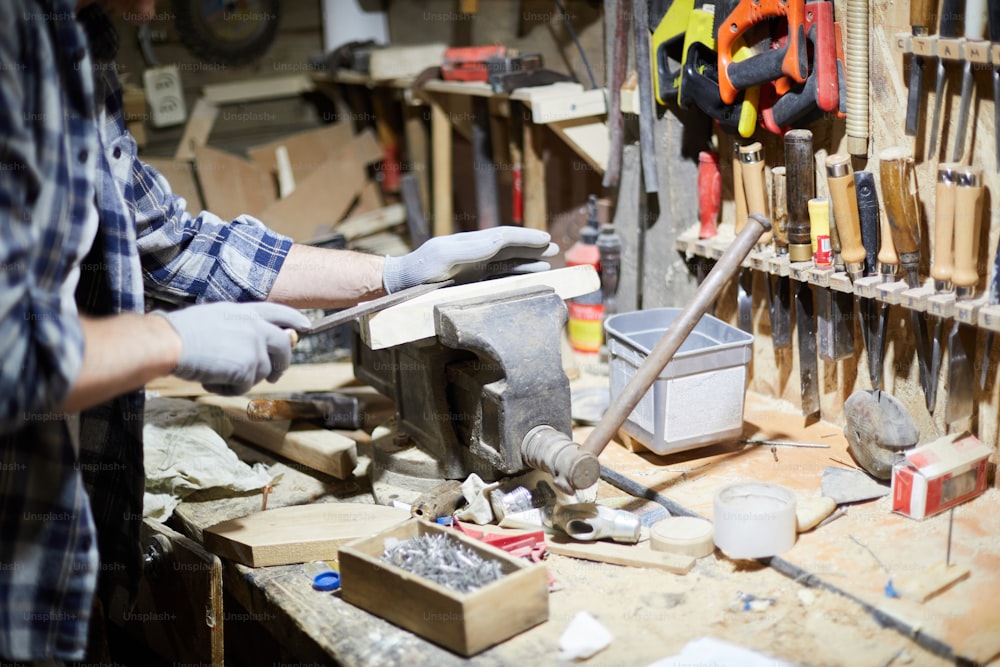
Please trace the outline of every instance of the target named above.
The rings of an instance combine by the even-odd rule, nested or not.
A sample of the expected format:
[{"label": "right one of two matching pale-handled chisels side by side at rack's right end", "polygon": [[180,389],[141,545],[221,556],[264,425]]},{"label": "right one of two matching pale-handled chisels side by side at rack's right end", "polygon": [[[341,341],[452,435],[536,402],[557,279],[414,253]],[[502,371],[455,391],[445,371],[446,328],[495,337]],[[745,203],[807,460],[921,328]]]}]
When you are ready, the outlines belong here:
[{"label": "right one of two matching pale-handled chisels side by side at rack's right end", "polygon": [[[955,298],[965,301],[975,295],[979,282],[976,260],[983,212],[982,170],[963,167],[956,175],[955,270],[951,280],[955,285]],[[955,318],[948,337],[948,407],[944,418],[947,424],[972,415],[973,378],[969,352],[975,354],[975,330]]]}]

